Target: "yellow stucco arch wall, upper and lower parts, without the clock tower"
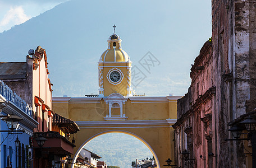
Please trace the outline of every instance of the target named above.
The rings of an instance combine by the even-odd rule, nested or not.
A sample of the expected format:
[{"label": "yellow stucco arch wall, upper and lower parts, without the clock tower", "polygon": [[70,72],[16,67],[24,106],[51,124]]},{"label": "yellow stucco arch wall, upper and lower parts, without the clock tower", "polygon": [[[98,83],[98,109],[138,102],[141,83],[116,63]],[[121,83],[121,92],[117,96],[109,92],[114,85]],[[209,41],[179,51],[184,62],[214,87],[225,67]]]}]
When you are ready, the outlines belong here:
[{"label": "yellow stucco arch wall, upper and lower parts, without the clock tower", "polygon": [[[176,122],[176,100],[180,96],[130,97],[123,104],[126,120],[106,121],[108,104],[100,97],[53,97],[53,110],[80,127],[75,152],[95,136],[107,132],[127,133],[142,138],[158,158],[159,166],[167,158],[174,160],[173,128]],[[170,122],[171,121],[171,122]],[[73,156],[75,157],[75,155]]]}]

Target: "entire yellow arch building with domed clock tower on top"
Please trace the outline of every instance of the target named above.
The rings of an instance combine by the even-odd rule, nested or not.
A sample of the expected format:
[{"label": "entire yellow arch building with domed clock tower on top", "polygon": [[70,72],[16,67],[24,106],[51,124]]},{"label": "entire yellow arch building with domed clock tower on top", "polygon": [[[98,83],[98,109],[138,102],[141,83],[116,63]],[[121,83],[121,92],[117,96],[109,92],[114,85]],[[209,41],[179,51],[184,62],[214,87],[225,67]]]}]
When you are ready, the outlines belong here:
[{"label": "entire yellow arch building with domed clock tower on top", "polygon": [[156,158],[157,167],[162,167],[167,158],[175,160],[171,125],[176,122],[176,101],[181,96],[133,95],[132,62],[121,41],[115,32],[109,36],[108,48],[99,59],[99,95],[53,97],[53,110],[80,127],[72,157],[93,138],[118,132],[142,141]]}]

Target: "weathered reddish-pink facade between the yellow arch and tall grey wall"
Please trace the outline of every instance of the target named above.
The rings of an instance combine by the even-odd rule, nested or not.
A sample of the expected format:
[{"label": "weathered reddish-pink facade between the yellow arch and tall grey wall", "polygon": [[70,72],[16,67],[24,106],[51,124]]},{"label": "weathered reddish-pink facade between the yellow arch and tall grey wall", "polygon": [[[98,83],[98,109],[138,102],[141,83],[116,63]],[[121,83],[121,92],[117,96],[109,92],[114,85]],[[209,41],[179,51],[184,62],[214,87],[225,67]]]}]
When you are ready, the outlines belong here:
[{"label": "weathered reddish-pink facade between the yellow arch and tall grey wall", "polygon": [[[177,122],[175,128],[176,158],[179,166],[185,162],[181,153],[190,152],[195,158],[195,167],[212,165],[212,111],[216,101],[213,77],[212,42],[206,41],[191,68],[189,92],[177,101]],[[202,122],[201,122],[202,121]],[[199,153],[196,154],[196,153]],[[195,157],[198,155],[198,157]],[[202,155],[202,158],[199,156]],[[192,161],[192,160],[191,160]]]}]

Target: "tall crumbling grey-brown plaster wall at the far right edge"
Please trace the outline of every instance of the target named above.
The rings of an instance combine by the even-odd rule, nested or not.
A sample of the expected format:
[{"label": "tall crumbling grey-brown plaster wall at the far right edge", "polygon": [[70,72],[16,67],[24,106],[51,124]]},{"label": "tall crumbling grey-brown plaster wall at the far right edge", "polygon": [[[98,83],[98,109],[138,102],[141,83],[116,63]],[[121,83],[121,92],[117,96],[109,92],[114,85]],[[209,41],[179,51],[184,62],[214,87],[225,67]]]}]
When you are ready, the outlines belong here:
[{"label": "tall crumbling grey-brown plaster wall at the far right edge", "polygon": [[246,167],[243,142],[225,138],[232,138],[227,123],[255,108],[255,7],[255,1],[212,1],[218,167]]}]

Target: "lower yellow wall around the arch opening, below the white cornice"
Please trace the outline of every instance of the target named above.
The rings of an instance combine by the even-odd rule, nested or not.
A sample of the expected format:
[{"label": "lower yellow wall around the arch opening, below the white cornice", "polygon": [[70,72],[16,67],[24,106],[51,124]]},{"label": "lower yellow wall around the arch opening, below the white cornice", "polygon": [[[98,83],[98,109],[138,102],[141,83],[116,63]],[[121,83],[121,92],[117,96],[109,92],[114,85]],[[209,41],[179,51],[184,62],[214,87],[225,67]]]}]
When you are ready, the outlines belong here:
[{"label": "lower yellow wall around the arch opening, below the white cornice", "polygon": [[[105,133],[125,133],[129,134],[135,138],[138,138],[143,142],[149,150],[154,155],[154,158],[157,158],[159,165],[162,167],[166,164],[165,160],[171,158],[174,160],[173,145],[168,139],[173,139],[173,129],[172,128],[113,128],[113,129],[104,129],[104,128],[93,128],[93,129],[81,129],[77,134],[76,147],[74,151],[79,153],[78,150],[81,147],[85,146],[88,143],[90,138],[95,138]],[[85,136],[86,135],[86,136]]]}]

